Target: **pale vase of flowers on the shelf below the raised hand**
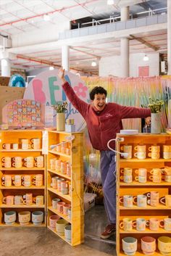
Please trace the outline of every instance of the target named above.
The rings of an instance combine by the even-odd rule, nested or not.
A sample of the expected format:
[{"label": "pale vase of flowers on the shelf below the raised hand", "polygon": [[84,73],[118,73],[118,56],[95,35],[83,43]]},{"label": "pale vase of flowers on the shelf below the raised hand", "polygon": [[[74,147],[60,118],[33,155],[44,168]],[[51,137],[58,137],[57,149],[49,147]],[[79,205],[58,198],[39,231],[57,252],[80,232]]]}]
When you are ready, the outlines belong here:
[{"label": "pale vase of flowers on the shelf below the raised hand", "polygon": [[65,130],[65,117],[64,112],[67,110],[67,102],[57,102],[56,105],[52,105],[57,112],[57,131]]}]

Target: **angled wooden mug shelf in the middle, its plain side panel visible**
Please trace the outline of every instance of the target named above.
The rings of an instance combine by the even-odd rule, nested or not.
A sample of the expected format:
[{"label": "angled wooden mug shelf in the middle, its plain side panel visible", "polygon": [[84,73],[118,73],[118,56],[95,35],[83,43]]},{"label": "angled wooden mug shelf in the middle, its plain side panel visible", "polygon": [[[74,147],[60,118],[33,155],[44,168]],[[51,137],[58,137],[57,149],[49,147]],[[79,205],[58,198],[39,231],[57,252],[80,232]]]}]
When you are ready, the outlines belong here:
[{"label": "angled wooden mug shelf in the middle, its plain side panel visible", "polygon": [[[71,142],[68,142],[70,147],[70,155],[57,152],[55,149],[51,150],[50,146],[59,144],[62,141],[66,141],[66,136],[75,136]],[[70,162],[71,176],[60,173],[60,171],[51,169],[50,161],[56,158],[63,162]],[[67,220],[71,224],[71,242],[68,242],[64,236],[57,234],[59,237],[67,241],[72,246],[81,244],[84,241],[84,206],[83,206],[83,133],[66,133],[49,131],[49,154],[47,158],[47,194],[48,194],[48,228],[57,234],[56,229],[52,229],[49,224],[49,218],[51,215],[59,215],[60,218]],[[51,178],[57,176],[63,178],[65,181],[70,182],[70,194],[62,194],[58,189],[51,187]],[[67,215],[53,209],[52,199],[59,198],[62,202],[66,202],[71,205],[71,219],[69,220]]]}]

